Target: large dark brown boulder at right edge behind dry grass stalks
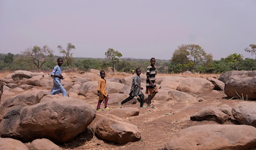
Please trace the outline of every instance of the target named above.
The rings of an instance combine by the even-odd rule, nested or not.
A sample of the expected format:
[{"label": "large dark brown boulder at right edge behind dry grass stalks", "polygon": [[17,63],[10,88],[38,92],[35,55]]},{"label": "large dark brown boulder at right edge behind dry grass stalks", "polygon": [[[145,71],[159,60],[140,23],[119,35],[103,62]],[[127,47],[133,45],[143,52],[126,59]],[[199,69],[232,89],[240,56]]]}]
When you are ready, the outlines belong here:
[{"label": "large dark brown boulder at right edge behind dry grass stalks", "polygon": [[239,99],[256,99],[256,71],[228,71],[219,80],[225,83],[225,94]]}]

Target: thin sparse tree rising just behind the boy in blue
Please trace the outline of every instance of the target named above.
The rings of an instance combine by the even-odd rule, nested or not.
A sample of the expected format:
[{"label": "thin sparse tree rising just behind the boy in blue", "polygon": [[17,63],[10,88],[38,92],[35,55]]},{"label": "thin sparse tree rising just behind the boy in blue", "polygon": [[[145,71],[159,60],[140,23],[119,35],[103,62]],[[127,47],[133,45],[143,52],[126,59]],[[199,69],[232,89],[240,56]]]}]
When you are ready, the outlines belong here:
[{"label": "thin sparse tree rising just behind the boy in blue", "polygon": [[72,62],[74,61],[73,53],[71,53],[70,51],[72,49],[76,49],[75,45],[72,45],[72,43],[67,43],[66,50],[64,50],[61,45],[58,45],[57,48],[60,49],[60,53],[63,53],[63,55],[64,55],[63,60],[67,63],[67,67],[69,67],[72,64]]}]

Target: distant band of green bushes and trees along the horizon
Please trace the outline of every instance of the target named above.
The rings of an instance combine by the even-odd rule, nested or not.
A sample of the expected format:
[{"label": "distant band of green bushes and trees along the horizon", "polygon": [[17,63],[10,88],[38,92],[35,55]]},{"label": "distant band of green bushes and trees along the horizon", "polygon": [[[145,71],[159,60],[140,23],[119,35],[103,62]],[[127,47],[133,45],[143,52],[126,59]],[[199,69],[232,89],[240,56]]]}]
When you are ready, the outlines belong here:
[{"label": "distant band of green bushes and trees along the horizon", "polygon": [[[208,62],[201,61],[194,63],[191,67],[191,62],[163,60],[156,58],[156,68],[158,73],[181,73],[183,71],[194,71],[200,73],[223,73],[232,70],[256,70],[256,59],[245,58],[243,59],[240,54],[231,54],[221,60],[210,60]],[[47,60],[41,67],[41,71],[51,71],[57,65],[57,58],[61,56],[46,56]],[[106,70],[111,67],[111,61],[107,58],[82,58],[74,57],[72,64],[69,67],[79,68],[83,71],[89,69]],[[119,62],[115,65],[115,70],[119,72],[131,73],[132,69],[141,68],[143,72],[146,71],[147,66],[150,65],[149,59],[133,59],[133,58],[119,58]],[[62,70],[67,68],[64,62]],[[0,71],[15,71],[15,70],[28,70],[38,71],[36,65],[26,61],[21,54],[0,54]]]}]

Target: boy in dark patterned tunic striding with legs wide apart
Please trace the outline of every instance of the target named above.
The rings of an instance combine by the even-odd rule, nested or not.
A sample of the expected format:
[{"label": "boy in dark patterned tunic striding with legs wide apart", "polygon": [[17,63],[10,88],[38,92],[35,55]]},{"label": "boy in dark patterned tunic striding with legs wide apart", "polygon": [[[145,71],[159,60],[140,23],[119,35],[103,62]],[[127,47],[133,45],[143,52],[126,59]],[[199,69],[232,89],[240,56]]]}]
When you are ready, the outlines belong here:
[{"label": "boy in dark patterned tunic striding with legs wide apart", "polygon": [[[140,97],[140,107],[142,108],[143,107],[143,103],[144,103],[144,94],[141,92],[141,90],[143,90],[143,87],[140,86],[140,82],[141,82],[141,79],[140,79],[140,74],[141,74],[141,71],[140,71],[140,68],[136,68],[136,74],[133,79],[132,79],[132,85],[131,85],[131,92],[130,92],[130,96],[123,100],[120,104],[120,102],[118,103],[119,104],[119,107],[122,108],[122,105],[128,101],[130,101],[131,99],[134,98],[134,96],[139,96]],[[145,107],[143,107],[145,108]]]}]

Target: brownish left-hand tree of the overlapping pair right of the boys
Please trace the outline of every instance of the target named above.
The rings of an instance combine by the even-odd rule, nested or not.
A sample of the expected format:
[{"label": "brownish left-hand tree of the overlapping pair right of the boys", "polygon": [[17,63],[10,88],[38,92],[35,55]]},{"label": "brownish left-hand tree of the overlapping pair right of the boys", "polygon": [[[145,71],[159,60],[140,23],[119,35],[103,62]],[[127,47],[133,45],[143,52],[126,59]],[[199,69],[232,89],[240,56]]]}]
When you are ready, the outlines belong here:
[{"label": "brownish left-hand tree of the overlapping pair right of the boys", "polygon": [[189,62],[189,51],[186,50],[186,45],[180,45],[172,54],[171,62],[180,63],[182,65],[182,71],[185,71],[184,64]]}]

